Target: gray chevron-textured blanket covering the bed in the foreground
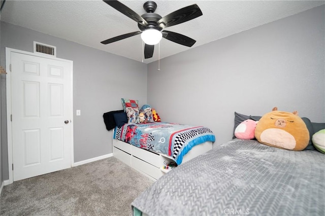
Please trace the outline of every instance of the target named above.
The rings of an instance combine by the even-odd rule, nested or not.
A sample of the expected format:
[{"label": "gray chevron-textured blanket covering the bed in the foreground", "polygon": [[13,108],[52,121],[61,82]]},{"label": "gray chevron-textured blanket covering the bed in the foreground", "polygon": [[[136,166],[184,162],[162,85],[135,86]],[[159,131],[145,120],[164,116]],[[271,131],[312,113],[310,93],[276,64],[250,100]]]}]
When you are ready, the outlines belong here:
[{"label": "gray chevron-textured blanket covering the bed in the foreground", "polygon": [[172,169],[132,206],[148,215],[325,215],[325,155],[235,139]]}]

